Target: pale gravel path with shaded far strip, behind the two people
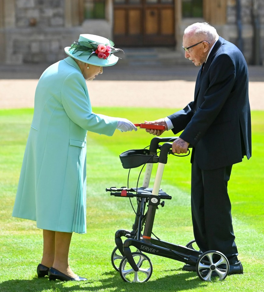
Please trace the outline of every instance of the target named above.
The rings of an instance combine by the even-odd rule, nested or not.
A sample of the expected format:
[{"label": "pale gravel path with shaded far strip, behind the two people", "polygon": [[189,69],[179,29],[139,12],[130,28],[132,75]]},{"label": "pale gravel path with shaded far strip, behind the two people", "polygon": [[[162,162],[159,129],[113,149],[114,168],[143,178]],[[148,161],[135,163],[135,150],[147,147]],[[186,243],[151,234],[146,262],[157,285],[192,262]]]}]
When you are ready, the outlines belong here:
[{"label": "pale gravel path with shaded far strip, behind the two people", "polygon": [[[34,92],[47,65],[0,67],[0,108],[34,107]],[[87,82],[93,107],[183,108],[193,99],[199,68],[113,66]],[[264,110],[264,67],[249,67],[252,110]],[[173,111],[173,110],[172,110]]]}]

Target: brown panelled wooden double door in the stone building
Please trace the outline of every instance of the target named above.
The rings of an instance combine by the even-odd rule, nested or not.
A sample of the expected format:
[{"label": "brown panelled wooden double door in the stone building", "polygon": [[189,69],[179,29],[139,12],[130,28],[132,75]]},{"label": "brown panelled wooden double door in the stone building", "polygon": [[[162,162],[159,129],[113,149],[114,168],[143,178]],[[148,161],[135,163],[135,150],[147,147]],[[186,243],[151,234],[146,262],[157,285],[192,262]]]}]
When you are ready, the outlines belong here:
[{"label": "brown panelled wooden double door in the stone building", "polygon": [[114,0],[114,43],[175,45],[174,0]]}]

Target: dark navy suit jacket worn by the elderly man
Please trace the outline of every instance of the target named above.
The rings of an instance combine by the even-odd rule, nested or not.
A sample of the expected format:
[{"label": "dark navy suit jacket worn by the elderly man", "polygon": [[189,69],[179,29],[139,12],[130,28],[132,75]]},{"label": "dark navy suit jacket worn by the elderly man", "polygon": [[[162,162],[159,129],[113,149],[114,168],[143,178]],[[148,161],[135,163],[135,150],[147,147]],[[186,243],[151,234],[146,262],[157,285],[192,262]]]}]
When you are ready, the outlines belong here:
[{"label": "dark navy suit jacket worn by the elderly man", "polygon": [[235,164],[244,155],[249,159],[248,67],[241,51],[219,37],[198,73],[194,101],[168,117],[174,134],[184,130],[180,138],[194,147],[191,162],[195,157],[201,169]]}]

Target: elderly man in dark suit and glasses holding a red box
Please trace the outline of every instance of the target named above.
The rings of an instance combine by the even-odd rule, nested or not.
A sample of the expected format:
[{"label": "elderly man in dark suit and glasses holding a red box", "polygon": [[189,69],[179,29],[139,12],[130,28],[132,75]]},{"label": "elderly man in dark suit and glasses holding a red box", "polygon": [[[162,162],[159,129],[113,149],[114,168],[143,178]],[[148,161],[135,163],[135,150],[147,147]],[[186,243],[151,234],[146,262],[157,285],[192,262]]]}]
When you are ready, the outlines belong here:
[{"label": "elderly man in dark suit and glasses holding a red box", "polygon": [[[243,273],[238,260],[227,182],[232,165],[251,157],[251,117],[248,68],[241,51],[219,37],[208,23],[194,23],[184,31],[185,58],[198,73],[194,101],[183,110],[149,123],[165,125],[177,134],[174,153],[193,146],[191,207],[193,232],[202,252],[226,255],[229,274]],[[153,135],[164,131],[146,130]],[[184,270],[195,270],[185,265]]]}]

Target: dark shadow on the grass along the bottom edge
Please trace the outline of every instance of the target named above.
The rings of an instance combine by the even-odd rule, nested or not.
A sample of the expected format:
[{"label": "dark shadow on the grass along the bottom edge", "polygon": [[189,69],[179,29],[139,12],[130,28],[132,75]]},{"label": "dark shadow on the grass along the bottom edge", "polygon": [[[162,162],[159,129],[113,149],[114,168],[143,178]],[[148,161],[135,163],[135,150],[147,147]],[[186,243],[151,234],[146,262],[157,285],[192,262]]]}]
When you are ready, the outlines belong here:
[{"label": "dark shadow on the grass along the bottom edge", "polygon": [[[201,285],[206,285],[205,282],[199,280],[194,272],[177,273],[181,269],[167,269],[164,273],[175,273],[166,275],[157,280],[145,283],[125,283],[118,272],[111,271],[102,273],[102,280],[88,279],[86,282],[62,282],[59,280],[49,281],[47,277],[32,280],[8,280],[0,283],[1,292],[22,292],[22,291],[48,291],[48,292],[73,292],[73,291],[115,291],[115,292],[134,292],[134,291],[181,291],[187,289],[195,289]],[[136,285],[136,286],[135,286]]]}]

